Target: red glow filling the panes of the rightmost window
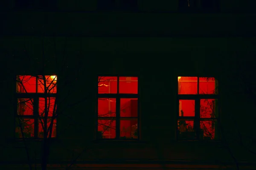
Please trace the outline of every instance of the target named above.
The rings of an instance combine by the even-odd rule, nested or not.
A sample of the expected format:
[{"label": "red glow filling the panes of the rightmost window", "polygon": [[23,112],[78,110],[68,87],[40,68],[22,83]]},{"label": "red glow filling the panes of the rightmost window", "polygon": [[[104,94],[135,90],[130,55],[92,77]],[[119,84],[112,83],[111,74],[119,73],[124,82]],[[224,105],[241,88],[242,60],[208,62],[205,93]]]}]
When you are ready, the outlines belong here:
[{"label": "red glow filling the panes of the rightmost window", "polygon": [[[218,94],[217,87],[217,81],[212,77],[178,77],[178,94]],[[214,139],[217,102],[218,99],[200,99],[200,128],[205,138]],[[190,135],[191,139],[195,138],[194,121],[189,119],[195,117],[195,108],[195,99],[179,100],[179,116],[182,119],[178,120],[178,129],[180,132],[186,129],[186,135]]]}]

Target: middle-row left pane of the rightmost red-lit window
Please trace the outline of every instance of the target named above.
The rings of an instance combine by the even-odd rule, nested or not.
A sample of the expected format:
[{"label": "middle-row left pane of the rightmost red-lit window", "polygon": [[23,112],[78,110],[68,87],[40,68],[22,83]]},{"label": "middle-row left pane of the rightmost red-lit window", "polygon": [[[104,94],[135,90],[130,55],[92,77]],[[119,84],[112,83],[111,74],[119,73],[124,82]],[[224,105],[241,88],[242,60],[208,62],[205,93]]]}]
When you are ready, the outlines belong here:
[{"label": "middle-row left pane of the rightmost red-lit window", "polygon": [[179,100],[179,116],[195,116],[195,100]]}]

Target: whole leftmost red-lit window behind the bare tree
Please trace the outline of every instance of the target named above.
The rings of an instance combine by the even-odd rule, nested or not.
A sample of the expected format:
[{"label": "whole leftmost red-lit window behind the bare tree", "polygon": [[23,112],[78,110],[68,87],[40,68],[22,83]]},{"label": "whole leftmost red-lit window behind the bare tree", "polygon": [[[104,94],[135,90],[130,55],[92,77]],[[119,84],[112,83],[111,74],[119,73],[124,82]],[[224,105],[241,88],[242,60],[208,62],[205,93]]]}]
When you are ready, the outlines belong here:
[{"label": "whole leftmost red-lit window behind the bare tree", "polygon": [[57,76],[16,76],[15,138],[56,137]]}]

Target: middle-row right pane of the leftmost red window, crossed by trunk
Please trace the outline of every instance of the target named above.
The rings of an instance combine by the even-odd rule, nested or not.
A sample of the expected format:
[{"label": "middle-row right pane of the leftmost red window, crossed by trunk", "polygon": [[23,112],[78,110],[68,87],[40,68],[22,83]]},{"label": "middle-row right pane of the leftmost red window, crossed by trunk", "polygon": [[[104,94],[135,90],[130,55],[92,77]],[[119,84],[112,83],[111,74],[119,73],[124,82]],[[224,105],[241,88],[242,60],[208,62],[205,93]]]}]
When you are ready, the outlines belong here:
[{"label": "middle-row right pane of the leftmost red window, crossed by trunk", "polygon": [[47,106],[45,107],[45,98],[39,98],[39,107],[38,107],[38,113],[39,116],[44,116],[46,111],[48,111],[48,117],[53,115],[53,111],[56,113],[56,106],[54,108],[55,104],[55,97],[47,97]]}]

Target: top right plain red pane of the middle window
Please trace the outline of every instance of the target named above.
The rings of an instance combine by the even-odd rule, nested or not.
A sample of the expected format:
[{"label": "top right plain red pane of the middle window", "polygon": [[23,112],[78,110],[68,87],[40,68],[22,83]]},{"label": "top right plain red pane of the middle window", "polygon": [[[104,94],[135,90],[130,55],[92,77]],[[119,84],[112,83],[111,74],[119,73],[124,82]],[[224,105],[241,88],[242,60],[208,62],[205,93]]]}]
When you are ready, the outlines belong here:
[{"label": "top right plain red pane of the middle window", "polygon": [[119,77],[119,93],[138,94],[138,77]]}]

